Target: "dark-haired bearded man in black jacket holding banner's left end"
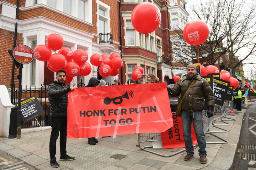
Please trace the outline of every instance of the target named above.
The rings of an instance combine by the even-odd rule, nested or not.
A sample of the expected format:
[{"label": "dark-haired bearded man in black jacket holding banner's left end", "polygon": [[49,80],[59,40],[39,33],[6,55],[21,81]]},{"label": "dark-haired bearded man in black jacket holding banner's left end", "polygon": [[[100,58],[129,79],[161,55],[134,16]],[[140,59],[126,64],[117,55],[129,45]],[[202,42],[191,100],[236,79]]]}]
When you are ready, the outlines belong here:
[{"label": "dark-haired bearded man in black jacket holding banner's left end", "polygon": [[66,72],[59,70],[56,73],[57,81],[54,81],[48,86],[48,99],[50,105],[50,124],[52,132],[50,135],[50,165],[53,168],[58,168],[59,164],[56,161],[56,141],[60,134],[60,159],[59,160],[74,160],[66,154],[66,137],[67,137],[67,119],[68,119],[68,92],[74,90],[74,87],[66,87]]}]

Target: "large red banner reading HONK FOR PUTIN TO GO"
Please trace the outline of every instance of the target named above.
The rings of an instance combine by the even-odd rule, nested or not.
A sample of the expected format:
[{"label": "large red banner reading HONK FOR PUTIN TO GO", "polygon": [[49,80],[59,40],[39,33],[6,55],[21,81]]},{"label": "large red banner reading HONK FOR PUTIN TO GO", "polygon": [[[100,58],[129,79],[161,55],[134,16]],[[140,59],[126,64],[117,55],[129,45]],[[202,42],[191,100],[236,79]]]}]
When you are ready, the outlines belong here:
[{"label": "large red banner reading HONK FOR PUTIN TO GO", "polygon": [[81,87],[68,93],[68,138],[164,132],[172,127],[166,83]]}]

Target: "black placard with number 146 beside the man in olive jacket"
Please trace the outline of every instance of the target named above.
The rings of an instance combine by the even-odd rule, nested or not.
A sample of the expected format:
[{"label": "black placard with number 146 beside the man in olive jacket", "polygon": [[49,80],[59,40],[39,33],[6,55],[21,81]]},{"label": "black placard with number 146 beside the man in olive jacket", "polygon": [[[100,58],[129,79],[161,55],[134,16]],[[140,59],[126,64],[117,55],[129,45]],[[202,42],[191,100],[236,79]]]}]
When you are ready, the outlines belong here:
[{"label": "black placard with number 146 beside the man in olive jacket", "polygon": [[227,91],[229,88],[230,82],[214,78],[213,79],[213,93],[215,104],[223,106],[224,100],[226,100]]}]

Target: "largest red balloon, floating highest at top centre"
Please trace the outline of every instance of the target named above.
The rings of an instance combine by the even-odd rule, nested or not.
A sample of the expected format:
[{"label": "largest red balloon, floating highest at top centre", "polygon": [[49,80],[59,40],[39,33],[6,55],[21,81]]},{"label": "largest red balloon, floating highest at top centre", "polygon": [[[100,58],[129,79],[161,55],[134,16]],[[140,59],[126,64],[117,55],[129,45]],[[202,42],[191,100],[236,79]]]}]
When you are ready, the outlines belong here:
[{"label": "largest red balloon, floating highest at top centre", "polygon": [[143,2],[133,9],[131,21],[135,30],[148,34],[156,30],[161,23],[161,12],[156,5]]}]

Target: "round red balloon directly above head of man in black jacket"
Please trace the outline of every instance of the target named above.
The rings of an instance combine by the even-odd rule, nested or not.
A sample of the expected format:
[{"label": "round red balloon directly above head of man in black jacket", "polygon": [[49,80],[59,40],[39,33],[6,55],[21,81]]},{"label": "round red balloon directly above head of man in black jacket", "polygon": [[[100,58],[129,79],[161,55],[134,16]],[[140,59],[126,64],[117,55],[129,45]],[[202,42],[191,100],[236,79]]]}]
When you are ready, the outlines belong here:
[{"label": "round red balloon directly above head of man in black jacket", "polygon": [[66,65],[66,57],[62,54],[55,53],[49,57],[49,66],[55,70],[62,70]]}]

